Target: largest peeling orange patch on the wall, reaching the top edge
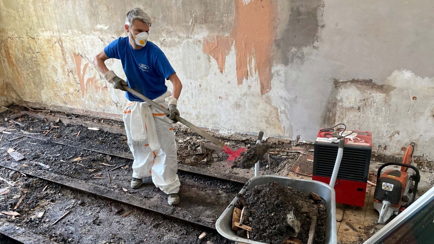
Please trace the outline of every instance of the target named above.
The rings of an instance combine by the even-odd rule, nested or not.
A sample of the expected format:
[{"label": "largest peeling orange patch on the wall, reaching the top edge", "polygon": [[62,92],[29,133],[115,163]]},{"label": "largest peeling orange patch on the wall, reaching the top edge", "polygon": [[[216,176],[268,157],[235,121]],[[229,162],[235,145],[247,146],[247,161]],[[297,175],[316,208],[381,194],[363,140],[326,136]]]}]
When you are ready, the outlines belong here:
[{"label": "largest peeling orange patch on the wall, reaching the top edge", "polygon": [[[223,57],[227,55],[229,43],[234,40],[237,50],[238,85],[241,85],[244,79],[248,79],[249,69],[254,68],[259,75],[261,94],[264,95],[271,90],[272,47],[276,36],[277,5],[275,0],[253,0],[248,4],[243,0],[235,1],[235,19],[230,36],[205,39],[204,52],[216,59],[222,73]],[[255,66],[252,65],[253,59]]]}]

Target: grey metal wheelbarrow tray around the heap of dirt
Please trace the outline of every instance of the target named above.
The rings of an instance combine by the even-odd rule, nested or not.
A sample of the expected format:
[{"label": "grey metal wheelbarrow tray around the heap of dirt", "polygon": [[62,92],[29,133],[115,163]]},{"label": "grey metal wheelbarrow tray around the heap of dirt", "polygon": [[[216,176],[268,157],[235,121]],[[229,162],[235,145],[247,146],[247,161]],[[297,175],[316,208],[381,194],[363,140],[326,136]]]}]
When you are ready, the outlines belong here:
[{"label": "grey metal wheelbarrow tray around the heap of dirt", "polygon": [[[327,209],[327,225],[325,231],[325,244],[336,244],[337,243],[337,230],[336,230],[336,202],[335,202],[335,190],[329,185],[312,180],[289,178],[284,176],[276,175],[260,175],[251,178],[247,181],[246,186],[241,189],[240,194],[245,191],[252,189],[256,185],[263,185],[270,181],[276,181],[280,185],[287,185],[299,191],[309,194],[311,191],[318,194]],[[220,235],[231,240],[239,241],[247,244],[263,244],[263,242],[253,241],[243,237],[237,236],[237,234],[232,231],[232,213],[235,208],[235,204],[238,201],[238,197],[235,197],[229,206],[224,210],[216,222],[216,229]]]}]

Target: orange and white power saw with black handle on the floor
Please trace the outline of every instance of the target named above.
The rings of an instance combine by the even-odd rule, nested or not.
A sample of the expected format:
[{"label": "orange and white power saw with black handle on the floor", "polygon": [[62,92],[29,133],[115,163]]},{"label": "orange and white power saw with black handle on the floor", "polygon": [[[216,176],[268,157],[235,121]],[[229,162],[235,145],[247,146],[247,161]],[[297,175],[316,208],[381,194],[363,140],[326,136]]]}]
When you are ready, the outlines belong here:
[{"label": "orange and white power saw with black handle on the floor", "polygon": [[[378,168],[374,208],[380,213],[380,224],[385,224],[393,214],[398,215],[414,202],[421,179],[418,168],[412,165],[414,145],[414,142],[410,143],[402,163],[387,163]],[[401,166],[401,170],[391,169],[381,175],[381,170],[389,165]],[[414,172],[407,172],[408,168]]]}]

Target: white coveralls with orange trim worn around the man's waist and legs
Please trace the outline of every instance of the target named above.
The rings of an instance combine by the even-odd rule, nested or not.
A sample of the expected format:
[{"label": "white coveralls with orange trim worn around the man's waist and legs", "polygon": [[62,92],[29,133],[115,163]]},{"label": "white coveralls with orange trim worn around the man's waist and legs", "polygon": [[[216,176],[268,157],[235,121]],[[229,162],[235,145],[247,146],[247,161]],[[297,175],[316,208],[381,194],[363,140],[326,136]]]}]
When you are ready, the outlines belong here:
[{"label": "white coveralls with orange trim worn around the man's waist and legs", "polygon": [[[167,107],[167,91],[154,99]],[[172,121],[147,102],[132,102],[123,115],[128,146],[134,156],[133,177],[152,176],[152,182],[166,194],[178,193],[178,161]]]}]

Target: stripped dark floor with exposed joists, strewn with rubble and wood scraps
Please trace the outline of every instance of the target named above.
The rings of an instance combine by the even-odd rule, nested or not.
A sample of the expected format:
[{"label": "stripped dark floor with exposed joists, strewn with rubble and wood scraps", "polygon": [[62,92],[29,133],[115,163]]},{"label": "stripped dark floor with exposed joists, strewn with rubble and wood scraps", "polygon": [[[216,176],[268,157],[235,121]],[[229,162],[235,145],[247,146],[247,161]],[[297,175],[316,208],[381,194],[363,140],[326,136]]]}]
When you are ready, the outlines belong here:
[{"label": "stripped dark floor with exposed joists, strewn with rubble and wood scraps", "polygon": [[[7,193],[1,195],[1,198],[6,200],[5,202],[9,202],[9,205],[2,206],[1,210],[20,214],[15,217],[2,215],[0,218],[3,226],[1,233],[7,233],[8,236],[24,243],[35,242],[27,237],[29,233],[33,234],[31,236],[41,238],[44,242],[50,241],[47,243],[89,243],[89,240],[98,240],[99,243],[139,243],[145,239],[148,242],[151,240],[150,243],[228,242],[214,230],[215,221],[237,192],[240,191],[243,183],[253,176],[253,170],[220,170],[221,168],[229,168],[225,165],[226,156],[222,152],[219,152],[207,141],[194,134],[178,132],[178,155],[181,161],[178,175],[181,180],[181,203],[176,207],[172,207],[167,204],[166,195],[158,188],[155,188],[150,178],[144,179],[142,187],[135,190],[130,188],[132,155],[125,143],[126,137],[122,135],[122,126],[118,122],[95,122],[97,119],[90,117],[78,119],[73,117],[79,117],[79,115],[53,115],[53,113],[48,115],[46,112],[44,114],[44,112],[37,111],[27,112],[26,114],[21,113],[20,117],[12,118],[13,121],[10,121],[10,116],[13,115],[12,117],[14,117],[14,115],[21,112],[20,109],[15,107],[15,109],[1,114],[3,117],[0,131],[3,133],[0,135],[0,150],[3,157],[0,158],[0,166],[2,166],[0,176],[5,179],[12,179],[12,184],[16,184],[15,186],[8,186],[5,181],[0,183],[0,188],[5,189],[4,192],[7,191]],[[9,118],[9,120],[3,120],[5,117]],[[64,122],[64,120],[68,120],[68,122]],[[88,129],[98,127],[102,129]],[[227,140],[226,143],[231,147],[237,147],[249,142]],[[9,148],[13,148],[25,158],[16,162],[6,152]],[[292,165],[296,156],[297,153],[283,157],[267,155],[261,162],[262,174],[278,172],[283,168],[287,168],[282,166]],[[243,174],[240,175],[240,172]],[[72,233],[69,233],[71,231],[61,230],[62,226],[66,226],[61,224],[62,221],[59,221],[54,227],[57,225],[60,229],[56,229],[51,233],[51,229],[47,231],[46,228],[55,221],[54,216],[67,212],[62,211],[62,208],[68,203],[59,203],[62,207],[56,208],[48,208],[45,205],[25,207],[26,204],[29,204],[27,201],[31,197],[31,192],[36,194],[34,197],[37,196],[43,199],[43,194],[39,194],[39,191],[42,192],[43,189],[27,189],[27,185],[25,189],[20,188],[21,181],[24,181],[23,184],[27,184],[29,180],[38,182],[35,184],[39,188],[41,184],[53,185],[53,188],[56,186],[59,188],[59,194],[67,195],[67,199],[76,199],[74,201],[85,199],[84,201],[89,202],[95,211],[101,213],[109,211],[109,213],[113,214],[110,212],[112,208],[108,208],[110,204],[124,204],[124,209],[134,210],[134,213],[137,212],[144,216],[147,216],[147,214],[159,216],[159,218],[168,222],[161,226],[152,225],[150,227],[135,223],[140,229],[145,228],[149,231],[149,234],[145,236],[140,235],[146,232],[140,232],[139,228],[130,228],[140,232],[137,236],[131,237],[128,231],[125,232],[129,227],[113,227],[110,225],[107,228],[106,224],[93,224],[93,220],[92,225],[94,226],[91,231],[96,234],[89,237],[89,239],[85,239],[89,236],[85,225],[90,222],[77,226]],[[23,195],[24,191],[27,191],[25,195]],[[87,192],[91,195],[80,192]],[[79,197],[73,196],[74,194],[79,195]],[[101,199],[97,199],[95,196]],[[20,201],[22,197],[22,207],[24,206],[25,209],[19,206],[13,210],[12,205]],[[52,201],[57,203],[56,199]],[[105,203],[96,204],[95,201],[105,201]],[[99,208],[95,207],[97,205]],[[77,206],[80,206],[80,209],[85,207],[79,204]],[[28,224],[26,221],[29,221],[29,218],[34,219],[34,213],[40,213],[38,211],[40,208],[45,210],[43,220],[36,219],[40,225]],[[74,211],[76,215],[71,212],[65,216],[65,221],[71,221],[71,223],[66,222],[67,226],[69,227],[76,222],[80,223],[75,218],[82,216],[83,212],[88,210],[93,212],[90,209],[81,209],[77,212]],[[31,213],[33,215],[28,215],[30,212],[33,212]],[[128,211],[123,213],[128,213]],[[110,219],[109,215],[108,213],[100,214],[101,222],[112,223],[116,221]],[[125,218],[122,217],[122,220],[128,218],[129,215],[125,216]],[[146,217],[140,217],[139,219],[144,218]],[[23,225],[19,225],[20,223]],[[168,233],[166,237],[164,231],[161,234],[161,228],[182,231],[182,228],[178,228],[178,225],[174,226],[170,223],[176,223],[183,228],[190,228],[195,232],[187,231],[187,234],[182,237],[178,236],[179,233],[178,235]],[[50,228],[54,227],[50,226]],[[110,242],[115,240],[114,237],[99,230],[99,228],[108,229],[112,231],[111,233],[118,233],[116,237],[118,240]],[[66,232],[64,233],[64,231]],[[184,232],[182,231],[182,233]],[[198,239],[203,232],[207,232],[206,238]],[[155,238],[155,240],[148,236],[153,236],[152,238]],[[173,240],[177,239],[178,242],[172,241],[170,236],[173,237]],[[36,242],[43,243],[42,241]]]}]

